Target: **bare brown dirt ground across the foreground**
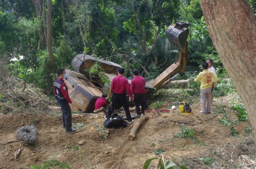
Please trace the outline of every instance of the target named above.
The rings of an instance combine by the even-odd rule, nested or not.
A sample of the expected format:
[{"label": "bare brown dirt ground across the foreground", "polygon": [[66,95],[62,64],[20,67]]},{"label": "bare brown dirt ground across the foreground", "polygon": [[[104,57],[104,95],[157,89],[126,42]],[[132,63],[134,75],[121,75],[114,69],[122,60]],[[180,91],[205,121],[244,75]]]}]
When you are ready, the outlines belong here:
[{"label": "bare brown dirt ground across the foreground", "polygon": [[[165,150],[166,160],[176,161],[190,169],[253,168],[256,166],[256,149],[251,133],[245,132],[249,123],[239,122],[239,125],[235,125],[235,130],[239,132],[239,137],[235,137],[231,136],[230,126],[218,121],[221,114],[217,114],[221,110],[226,111],[231,121],[237,119],[234,110],[222,106],[226,98],[218,98],[212,113],[207,115],[199,113],[200,103],[191,105],[192,113],[189,115],[170,110],[161,112],[169,116],[164,118],[153,111],[145,112],[149,119],[137,130],[133,141],[128,140],[128,135],[138,118],[126,128],[104,129],[105,132],[109,131],[105,139],[105,134],[100,134],[105,121],[103,113],[92,117],[73,115],[73,123],[85,124],[84,128],[73,134],[64,132],[60,115],[30,112],[1,114],[0,169],[26,169],[35,164],[41,166],[50,158],[68,163],[72,169],[141,169],[147,159],[160,157],[154,154],[156,149]],[[31,124],[38,129],[36,144],[23,141],[6,143],[16,139],[15,132],[19,127]],[[181,124],[187,129],[194,129],[196,142],[175,137],[181,132]],[[18,149],[21,150],[20,155],[15,159],[14,153]],[[208,165],[202,160],[207,157],[212,161]],[[157,160],[152,161],[151,168],[156,168],[157,163]]]}]

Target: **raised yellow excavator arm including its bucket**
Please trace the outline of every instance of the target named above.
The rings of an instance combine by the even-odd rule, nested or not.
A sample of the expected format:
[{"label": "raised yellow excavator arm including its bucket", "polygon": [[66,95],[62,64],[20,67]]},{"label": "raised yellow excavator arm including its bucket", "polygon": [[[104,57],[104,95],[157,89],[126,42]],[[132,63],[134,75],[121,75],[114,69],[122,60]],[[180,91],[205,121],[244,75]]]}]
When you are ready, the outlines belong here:
[{"label": "raised yellow excavator arm including its bucket", "polygon": [[151,87],[155,87],[158,90],[170,81],[170,77],[174,73],[178,72],[181,74],[186,70],[186,62],[188,58],[188,42],[186,40],[189,35],[188,26],[189,23],[180,23],[178,20],[175,20],[175,23],[166,29],[166,37],[170,44],[179,48],[179,57],[177,62],[170,65],[169,68],[149,84]]}]

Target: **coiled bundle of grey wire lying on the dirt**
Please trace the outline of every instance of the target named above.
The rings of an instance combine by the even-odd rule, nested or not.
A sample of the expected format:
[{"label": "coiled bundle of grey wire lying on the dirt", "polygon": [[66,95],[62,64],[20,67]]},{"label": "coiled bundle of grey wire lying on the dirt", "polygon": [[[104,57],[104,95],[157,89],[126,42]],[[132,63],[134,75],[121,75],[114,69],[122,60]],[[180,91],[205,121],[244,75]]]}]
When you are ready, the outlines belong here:
[{"label": "coiled bundle of grey wire lying on the dirt", "polygon": [[30,144],[36,142],[38,130],[35,126],[22,126],[16,131],[16,137]]}]

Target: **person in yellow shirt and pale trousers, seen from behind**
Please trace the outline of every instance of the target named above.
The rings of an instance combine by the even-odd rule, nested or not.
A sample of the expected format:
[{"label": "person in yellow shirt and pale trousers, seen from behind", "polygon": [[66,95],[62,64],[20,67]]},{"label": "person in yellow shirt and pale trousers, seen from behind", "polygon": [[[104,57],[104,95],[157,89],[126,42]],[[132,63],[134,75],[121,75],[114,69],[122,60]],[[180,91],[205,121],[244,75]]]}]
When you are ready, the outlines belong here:
[{"label": "person in yellow shirt and pale trousers, seen from behind", "polygon": [[211,113],[211,93],[212,93],[212,78],[214,82],[218,82],[218,78],[215,76],[213,71],[208,70],[208,63],[204,62],[202,67],[204,71],[200,72],[195,78],[195,82],[201,81],[200,91],[201,91],[201,102],[202,109],[200,113],[209,114]]}]

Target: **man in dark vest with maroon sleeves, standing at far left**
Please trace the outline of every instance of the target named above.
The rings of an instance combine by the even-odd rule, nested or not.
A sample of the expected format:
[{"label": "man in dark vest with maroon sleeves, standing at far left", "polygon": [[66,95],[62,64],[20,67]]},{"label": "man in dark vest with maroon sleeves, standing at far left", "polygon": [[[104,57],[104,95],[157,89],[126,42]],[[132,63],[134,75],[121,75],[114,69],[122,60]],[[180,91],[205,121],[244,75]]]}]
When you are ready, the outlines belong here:
[{"label": "man in dark vest with maroon sleeves, standing at far left", "polygon": [[73,105],[67,91],[67,85],[64,79],[67,78],[66,70],[58,70],[58,79],[53,83],[55,98],[62,110],[62,126],[66,128],[66,132],[75,132],[76,129],[72,129],[72,115],[70,104]]}]

